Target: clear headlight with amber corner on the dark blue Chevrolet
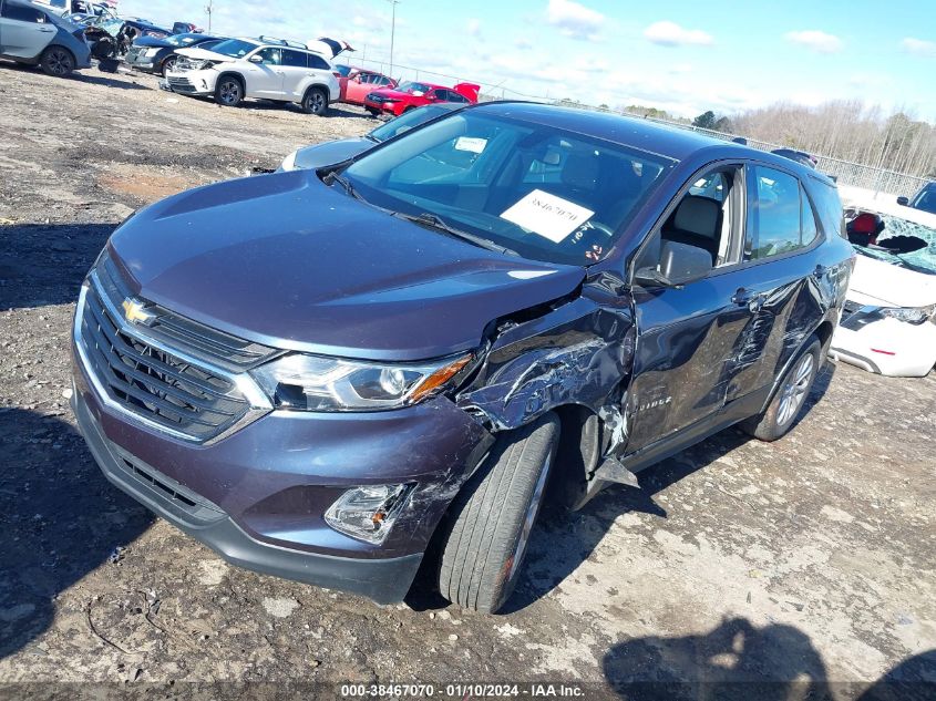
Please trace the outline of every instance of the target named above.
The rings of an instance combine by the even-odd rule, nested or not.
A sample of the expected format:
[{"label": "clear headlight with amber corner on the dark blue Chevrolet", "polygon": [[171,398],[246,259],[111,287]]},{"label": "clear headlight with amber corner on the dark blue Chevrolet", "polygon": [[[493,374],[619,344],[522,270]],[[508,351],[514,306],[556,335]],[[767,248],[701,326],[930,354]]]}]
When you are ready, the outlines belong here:
[{"label": "clear headlight with amber corner on the dark blue Chevrolet", "polygon": [[438,394],[470,370],[472,358],[397,364],[295,353],[251,372],[277,409],[379,411]]}]

